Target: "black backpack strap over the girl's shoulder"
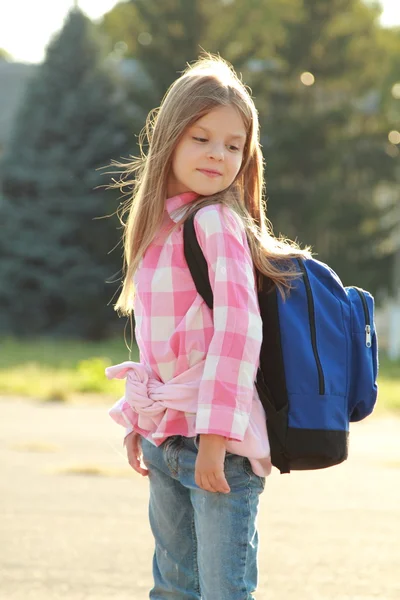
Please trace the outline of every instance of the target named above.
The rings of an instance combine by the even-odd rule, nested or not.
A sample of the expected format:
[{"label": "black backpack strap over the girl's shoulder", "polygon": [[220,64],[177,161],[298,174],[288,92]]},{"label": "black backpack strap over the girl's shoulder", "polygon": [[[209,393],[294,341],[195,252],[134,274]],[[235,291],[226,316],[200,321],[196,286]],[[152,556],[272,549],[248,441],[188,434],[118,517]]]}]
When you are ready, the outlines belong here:
[{"label": "black backpack strap over the girl's shoulder", "polygon": [[210,278],[208,276],[207,261],[200,248],[196,230],[194,228],[195,214],[195,212],[191,214],[183,224],[183,248],[186,262],[196,289],[204,299],[208,308],[212,309],[214,306],[214,296],[211,289]]}]

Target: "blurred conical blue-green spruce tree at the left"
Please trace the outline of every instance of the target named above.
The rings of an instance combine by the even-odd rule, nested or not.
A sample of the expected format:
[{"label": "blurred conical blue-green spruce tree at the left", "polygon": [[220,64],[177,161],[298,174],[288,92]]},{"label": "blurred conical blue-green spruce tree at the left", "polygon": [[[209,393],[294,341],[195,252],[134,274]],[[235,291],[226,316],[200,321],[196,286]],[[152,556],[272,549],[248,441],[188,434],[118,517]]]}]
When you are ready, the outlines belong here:
[{"label": "blurred conical blue-green spruce tree at the left", "polygon": [[128,147],[123,97],[90,20],[72,10],[30,82],[2,161],[3,330],[100,337],[115,326],[106,280],[117,207],[98,171]]}]

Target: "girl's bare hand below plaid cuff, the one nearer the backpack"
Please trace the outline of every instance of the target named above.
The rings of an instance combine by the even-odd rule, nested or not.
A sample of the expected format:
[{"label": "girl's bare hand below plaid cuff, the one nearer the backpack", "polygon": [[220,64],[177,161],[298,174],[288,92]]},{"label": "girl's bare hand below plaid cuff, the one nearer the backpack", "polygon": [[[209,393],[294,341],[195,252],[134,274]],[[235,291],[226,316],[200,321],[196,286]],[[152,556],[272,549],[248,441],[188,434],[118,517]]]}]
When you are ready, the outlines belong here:
[{"label": "girl's bare hand below plaid cuff, the one nearer the backpack", "polygon": [[225,438],[221,435],[200,435],[199,452],[196,459],[196,484],[207,492],[229,494],[231,488],[225,478]]}]

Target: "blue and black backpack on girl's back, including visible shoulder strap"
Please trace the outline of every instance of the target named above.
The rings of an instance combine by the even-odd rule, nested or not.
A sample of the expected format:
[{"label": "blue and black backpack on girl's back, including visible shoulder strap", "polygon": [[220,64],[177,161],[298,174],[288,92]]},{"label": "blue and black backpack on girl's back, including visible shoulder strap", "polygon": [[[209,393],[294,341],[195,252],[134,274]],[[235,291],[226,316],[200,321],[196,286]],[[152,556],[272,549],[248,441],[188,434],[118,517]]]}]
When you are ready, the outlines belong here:
[{"label": "blue and black backpack on girl's back, including visible shoulder strap", "polygon": [[[206,304],[213,293],[194,214],[184,223],[184,251]],[[263,404],[272,464],[281,473],[322,469],[348,456],[349,423],[369,415],[377,397],[374,299],[343,287],[327,265],[292,259],[299,278],[285,301],[268,277],[258,292],[263,322],[255,385]]]}]

